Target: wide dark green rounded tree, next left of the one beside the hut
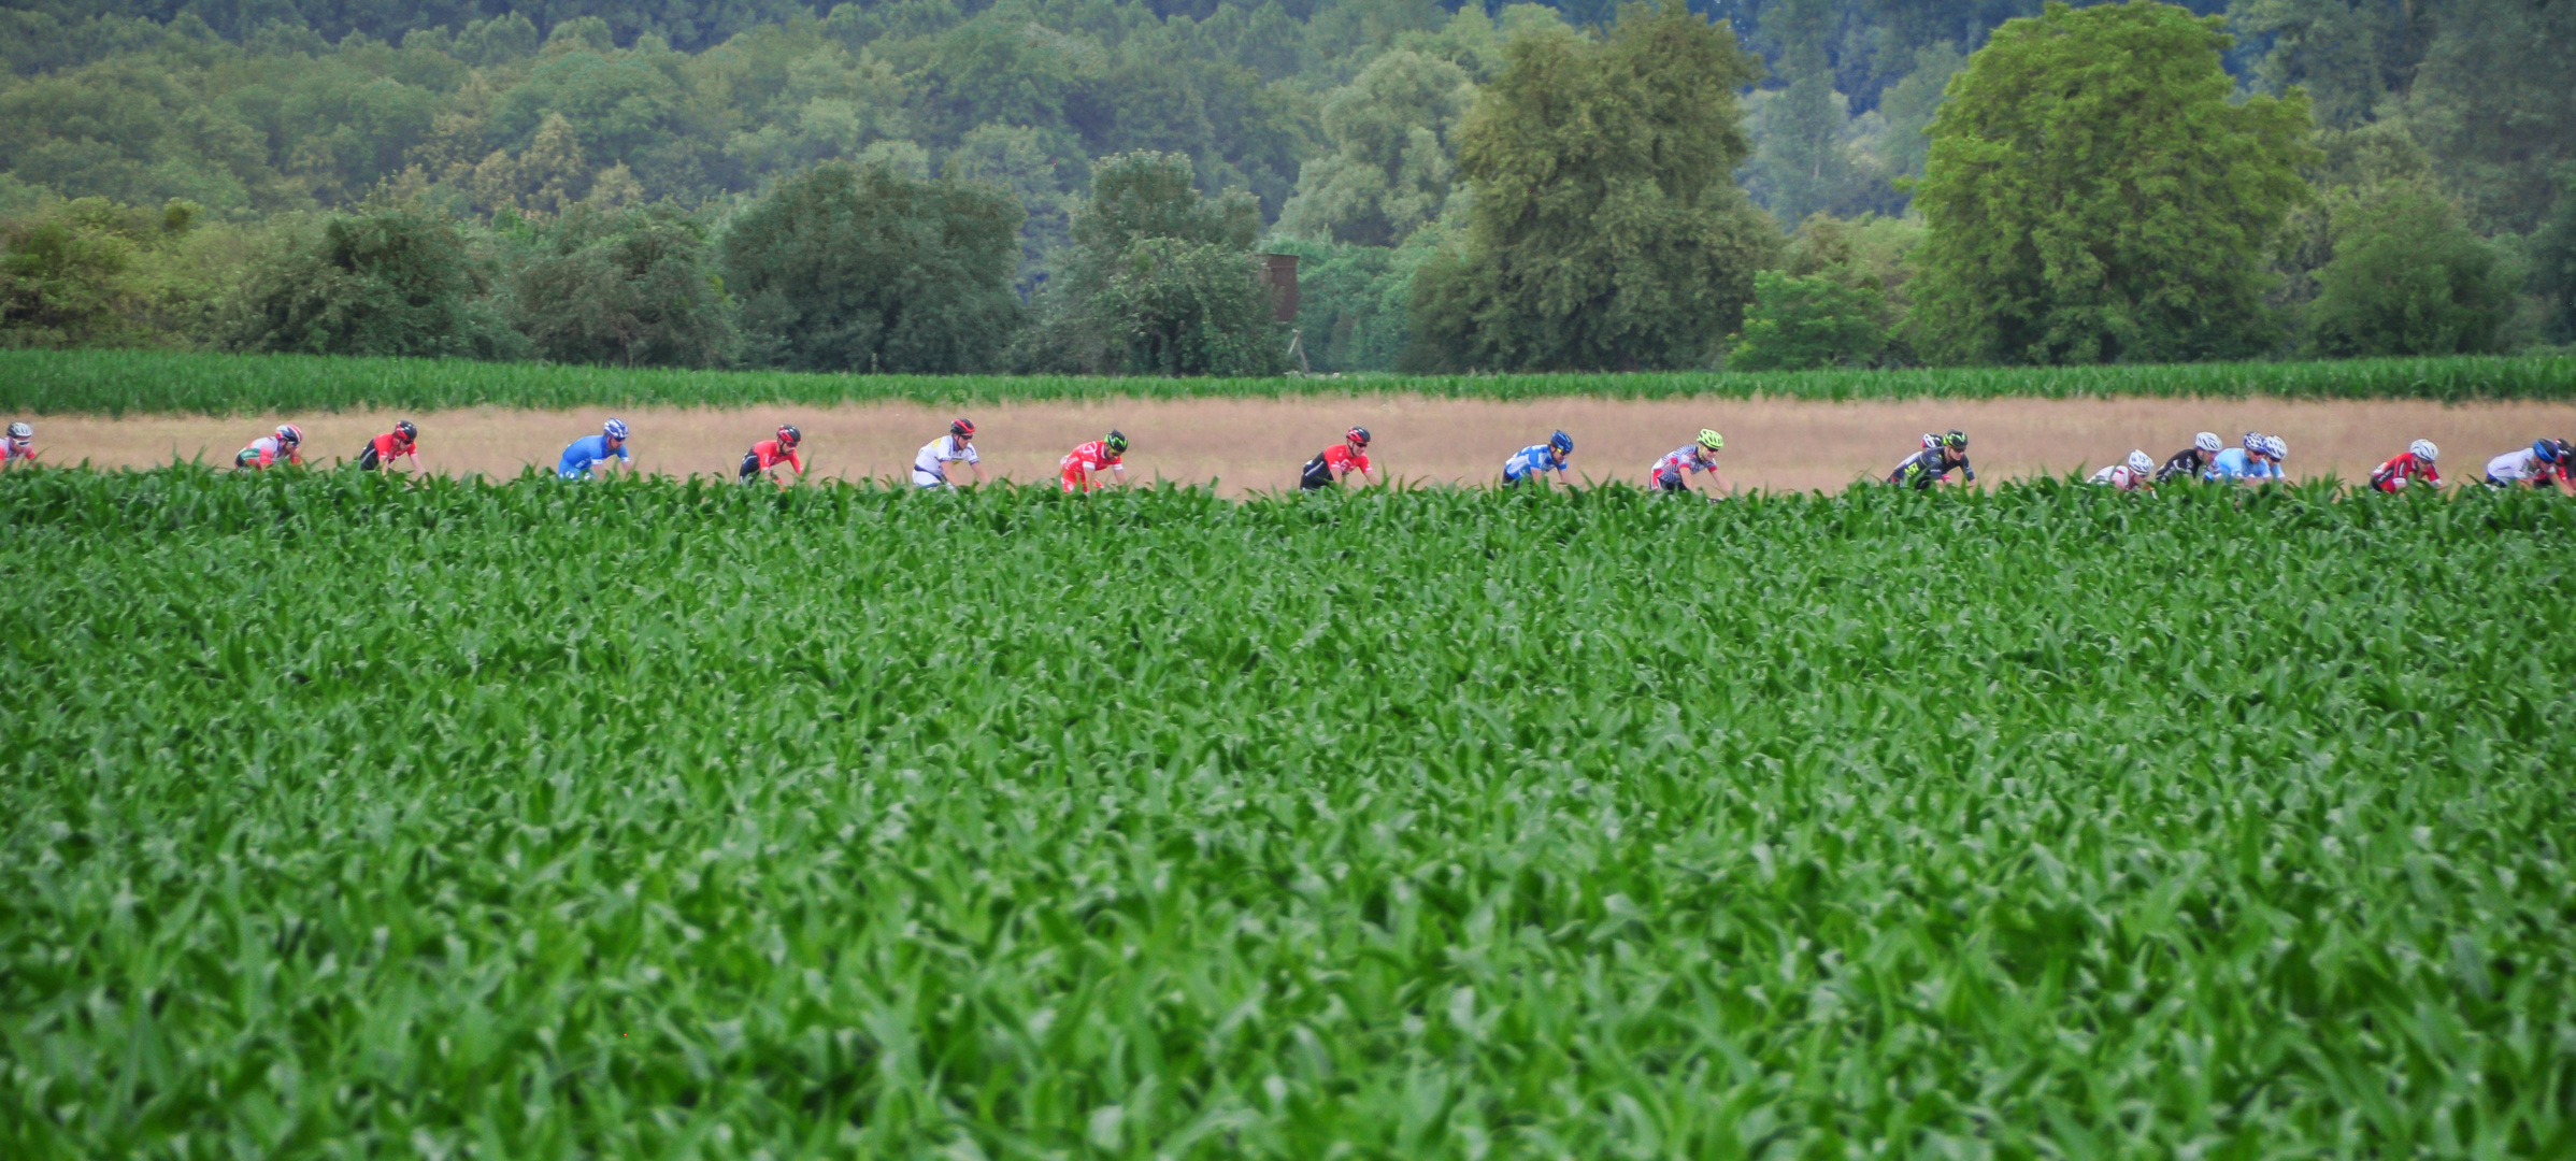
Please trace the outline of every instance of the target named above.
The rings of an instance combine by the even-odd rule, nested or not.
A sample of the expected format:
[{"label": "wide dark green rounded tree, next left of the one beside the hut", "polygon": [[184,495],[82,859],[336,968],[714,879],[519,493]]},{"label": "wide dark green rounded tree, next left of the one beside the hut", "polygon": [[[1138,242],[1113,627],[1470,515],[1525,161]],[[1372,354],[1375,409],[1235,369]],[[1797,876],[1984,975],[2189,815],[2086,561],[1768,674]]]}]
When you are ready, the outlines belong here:
[{"label": "wide dark green rounded tree, next left of the one beside the hut", "polygon": [[791,371],[989,368],[1020,304],[1020,206],[989,185],[824,165],[724,234],[744,355]]}]

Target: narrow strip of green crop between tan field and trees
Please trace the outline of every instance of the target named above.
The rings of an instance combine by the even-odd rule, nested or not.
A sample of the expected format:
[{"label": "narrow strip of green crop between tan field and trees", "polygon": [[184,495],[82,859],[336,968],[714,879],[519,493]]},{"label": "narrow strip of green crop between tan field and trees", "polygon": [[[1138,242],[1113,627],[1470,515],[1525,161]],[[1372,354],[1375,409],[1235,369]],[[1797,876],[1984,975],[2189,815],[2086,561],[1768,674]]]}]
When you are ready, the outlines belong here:
[{"label": "narrow strip of green crop between tan field and trees", "polygon": [[2576,399],[2571,355],[1628,376],[1072,378],[629,371],[407,358],[0,350],[0,412],[260,414],[353,407],[992,404],[1404,391],[1443,399]]}]

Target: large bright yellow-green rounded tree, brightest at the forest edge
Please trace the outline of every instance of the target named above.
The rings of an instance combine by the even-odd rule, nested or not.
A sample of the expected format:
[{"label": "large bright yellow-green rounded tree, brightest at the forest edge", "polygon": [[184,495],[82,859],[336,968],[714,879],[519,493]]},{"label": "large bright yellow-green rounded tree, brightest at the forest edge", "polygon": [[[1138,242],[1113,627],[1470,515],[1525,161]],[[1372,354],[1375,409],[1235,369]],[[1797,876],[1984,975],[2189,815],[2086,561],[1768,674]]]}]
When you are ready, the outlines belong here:
[{"label": "large bright yellow-green rounded tree, brightest at the forest edge", "polygon": [[2228,358],[2275,340],[2262,263],[2306,196],[2306,98],[2233,100],[2215,18],[2004,23],[1932,121],[1914,314],[1945,360]]}]

